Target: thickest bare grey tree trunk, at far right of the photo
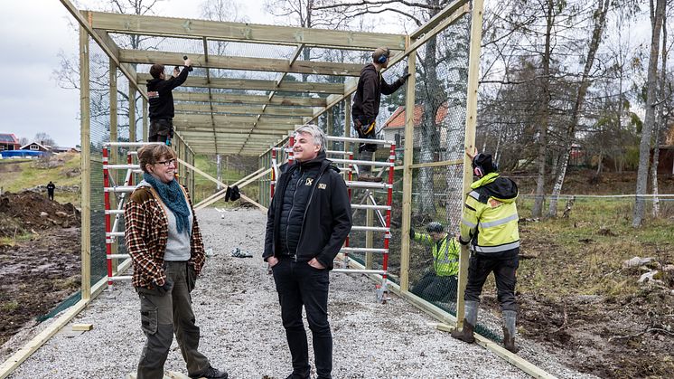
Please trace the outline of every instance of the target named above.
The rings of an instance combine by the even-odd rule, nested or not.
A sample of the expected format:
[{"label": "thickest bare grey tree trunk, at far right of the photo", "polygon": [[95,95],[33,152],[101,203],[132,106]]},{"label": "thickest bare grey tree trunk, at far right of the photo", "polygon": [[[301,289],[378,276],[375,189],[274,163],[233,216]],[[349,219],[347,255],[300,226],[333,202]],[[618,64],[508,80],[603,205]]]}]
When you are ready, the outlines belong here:
[{"label": "thickest bare grey tree trunk, at far right of the photo", "polygon": [[[646,81],[646,117],[641,128],[641,144],[639,145],[639,170],[637,171],[636,200],[632,226],[637,228],[643,222],[645,199],[648,187],[649,161],[651,156],[651,131],[655,124],[655,103],[658,85],[658,57],[660,55],[660,30],[665,13],[666,0],[657,0],[655,10],[651,11],[651,56],[649,58],[648,80]],[[651,9],[653,3],[651,1]]]}]

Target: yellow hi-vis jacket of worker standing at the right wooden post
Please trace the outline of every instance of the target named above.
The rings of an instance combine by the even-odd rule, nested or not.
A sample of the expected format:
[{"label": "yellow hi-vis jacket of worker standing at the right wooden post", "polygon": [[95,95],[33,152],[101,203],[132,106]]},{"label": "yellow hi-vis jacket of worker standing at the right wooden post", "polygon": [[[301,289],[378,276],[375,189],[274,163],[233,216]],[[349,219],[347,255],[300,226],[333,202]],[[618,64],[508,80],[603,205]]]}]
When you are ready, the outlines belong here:
[{"label": "yellow hi-vis jacket of worker standing at the right wooden post", "polygon": [[520,253],[518,188],[498,173],[484,175],[471,185],[461,220],[461,242],[471,243],[479,255],[509,258]]}]

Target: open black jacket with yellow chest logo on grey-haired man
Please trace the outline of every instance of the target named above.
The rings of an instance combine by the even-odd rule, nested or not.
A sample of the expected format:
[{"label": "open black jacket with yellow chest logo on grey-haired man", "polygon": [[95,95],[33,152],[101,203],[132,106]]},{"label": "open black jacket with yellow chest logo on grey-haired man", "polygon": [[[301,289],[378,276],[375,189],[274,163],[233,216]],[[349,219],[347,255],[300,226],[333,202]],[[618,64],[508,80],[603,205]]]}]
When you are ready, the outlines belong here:
[{"label": "open black jacket with yellow chest logo on grey-haired man", "polygon": [[[271,256],[280,257],[283,250],[281,226],[285,224],[286,248],[289,246],[292,249],[289,252],[295,255],[296,261],[311,261],[315,258],[328,270],[332,270],[332,261],[351,232],[351,201],[346,184],[338,174],[339,169],[331,165],[322,151],[311,161],[282,166],[282,170],[285,171],[278,178],[277,189],[267,212],[265,252],[262,258],[267,261]],[[295,171],[301,173],[299,178]],[[301,217],[295,210],[288,210],[285,216],[282,215],[286,189],[293,175],[299,181],[295,181],[297,187],[294,199],[291,200],[299,208],[304,208]],[[298,200],[298,196],[304,198]],[[285,220],[282,221],[282,217]],[[299,229],[296,229],[297,226]]]}]

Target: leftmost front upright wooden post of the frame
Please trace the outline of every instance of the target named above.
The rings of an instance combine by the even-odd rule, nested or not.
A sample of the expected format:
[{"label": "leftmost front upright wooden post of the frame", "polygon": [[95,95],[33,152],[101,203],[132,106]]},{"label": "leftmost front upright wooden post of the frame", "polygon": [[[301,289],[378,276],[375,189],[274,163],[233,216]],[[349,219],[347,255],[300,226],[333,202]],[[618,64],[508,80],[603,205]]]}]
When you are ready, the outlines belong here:
[{"label": "leftmost front upright wooden post of the frame", "polygon": [[82,299],[91,298],[91,136],[89,119],[89,33],[80,26],[81,265]]}]

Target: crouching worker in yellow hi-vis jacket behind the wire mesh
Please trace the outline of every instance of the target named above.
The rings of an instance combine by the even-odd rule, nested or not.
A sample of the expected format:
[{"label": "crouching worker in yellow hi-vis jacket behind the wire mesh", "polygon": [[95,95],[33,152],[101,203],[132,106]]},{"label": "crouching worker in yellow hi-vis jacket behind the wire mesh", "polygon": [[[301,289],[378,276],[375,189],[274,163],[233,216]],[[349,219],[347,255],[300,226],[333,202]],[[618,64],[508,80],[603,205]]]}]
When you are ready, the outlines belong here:
[{"label": "crouching worker in yellow hi-vis jacket behind the wire mesh", "polygon": [[410,290],[428,301],[456,301],[456,275],[459,273],[459,242],[450,236],[441,223],[428,223],[426,233],[410,228],[409,237],[416,242],[431,245],[433,270],[417,282]]}]

